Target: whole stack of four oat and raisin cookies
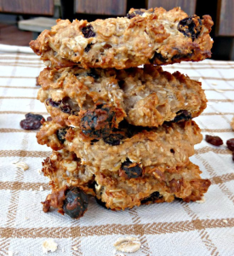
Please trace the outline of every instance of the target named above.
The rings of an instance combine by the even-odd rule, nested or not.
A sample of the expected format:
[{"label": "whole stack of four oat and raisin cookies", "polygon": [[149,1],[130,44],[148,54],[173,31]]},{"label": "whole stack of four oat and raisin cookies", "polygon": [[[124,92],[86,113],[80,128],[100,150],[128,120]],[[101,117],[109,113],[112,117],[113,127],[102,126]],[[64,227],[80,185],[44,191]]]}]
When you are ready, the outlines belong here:
[{"label": "whole stack of four oat and raisin cookies", "polygon": [[[192,120],[206,108],[201,83],[160,65],[210,57],[213,21],[175,8],[127,17],[57,20],[31,49],[46,67],[38,100],[51,118],[37,142],[52,193],[44,212],[79,218],[93,195],[103,207],[201,200],[210,182],[189,157],[203,139]],[[144,65],[143,67],[138,67]]]}]

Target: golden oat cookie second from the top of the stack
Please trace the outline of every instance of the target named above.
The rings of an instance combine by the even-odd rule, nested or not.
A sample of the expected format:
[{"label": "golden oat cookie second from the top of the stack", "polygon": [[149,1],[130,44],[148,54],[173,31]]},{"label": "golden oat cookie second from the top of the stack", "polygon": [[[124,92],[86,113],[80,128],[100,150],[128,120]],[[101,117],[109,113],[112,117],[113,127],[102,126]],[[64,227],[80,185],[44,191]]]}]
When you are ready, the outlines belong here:
[{"label": "golden oat cookie second from the top of the stack", "polygon": [[[113,127],[123,118],[132,125],[155,126],[174,119],[197,117],[206,108],[201,83],[161,67],[146,65],[126,70],[45,68],[38,78],[42,88],[37,99],[60,125],[81,127],[86,116],[106,119],[111,113]],[[107,110],[107,108],[109,110]]]}]

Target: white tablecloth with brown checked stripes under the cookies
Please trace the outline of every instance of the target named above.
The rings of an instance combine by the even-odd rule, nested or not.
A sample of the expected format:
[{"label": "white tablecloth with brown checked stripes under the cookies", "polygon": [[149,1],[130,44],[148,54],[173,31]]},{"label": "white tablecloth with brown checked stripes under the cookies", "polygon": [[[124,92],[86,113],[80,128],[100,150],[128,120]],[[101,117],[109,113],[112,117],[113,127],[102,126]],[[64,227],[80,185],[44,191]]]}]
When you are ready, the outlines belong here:
[{"label": "white tablecloth with brown checked stripes under the cookies", "polygon": [[[1,45],[0,45],[1,46]],[[0,255],[43,255],[43,241],[53,238],[51,255],[113,256],[118,237],[134,236],[142,247],[133,256],[234,255],[234,162],[224,145],[204,140],[191,161],[212,185],[204,203],[174,201],[111,212],[90,201],[83,218],[73,220],[58,212],[43,213],[41,201],[49,194],[48,179],[39,174],[50,148],[37,144],[36,131],[20,129],[29,112],[47,116],[36,100],[36,77],[44,68],[29,49],[0,47]],[[164,67],[203,82],[208,108],[196,119],[203,135],[234,137],[234,62],[183,62]],[[13,162],[24,161],[25,172]]]}]

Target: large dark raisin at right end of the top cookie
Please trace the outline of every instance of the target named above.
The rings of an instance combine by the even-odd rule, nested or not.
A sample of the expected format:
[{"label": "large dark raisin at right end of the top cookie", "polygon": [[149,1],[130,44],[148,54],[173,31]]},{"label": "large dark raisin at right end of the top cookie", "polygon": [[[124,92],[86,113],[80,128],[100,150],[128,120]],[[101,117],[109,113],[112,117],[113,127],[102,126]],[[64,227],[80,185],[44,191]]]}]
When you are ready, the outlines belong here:
[{"label": "large dark raisin at right end of the top cookie", "polygon": [[193,41],[195,38],[199,36],[202,27],[203,21],[199,19],[197,15],[193,15],[183,20],[180,20],[177,29],[186,37],[191,38]]}]

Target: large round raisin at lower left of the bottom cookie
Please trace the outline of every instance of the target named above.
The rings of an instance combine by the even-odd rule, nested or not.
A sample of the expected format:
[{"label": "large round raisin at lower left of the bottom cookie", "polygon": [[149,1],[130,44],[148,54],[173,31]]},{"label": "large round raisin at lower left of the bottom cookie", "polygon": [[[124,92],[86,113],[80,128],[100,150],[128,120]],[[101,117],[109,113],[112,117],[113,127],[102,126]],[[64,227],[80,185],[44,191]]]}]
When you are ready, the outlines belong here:
[{"label": "large round raisin at lower left of the bottom cookie", "polygon": [[88,195],[83,190],[72,187],[66,192],[63,210],[71,218],[80,218],[88,208]]}]

